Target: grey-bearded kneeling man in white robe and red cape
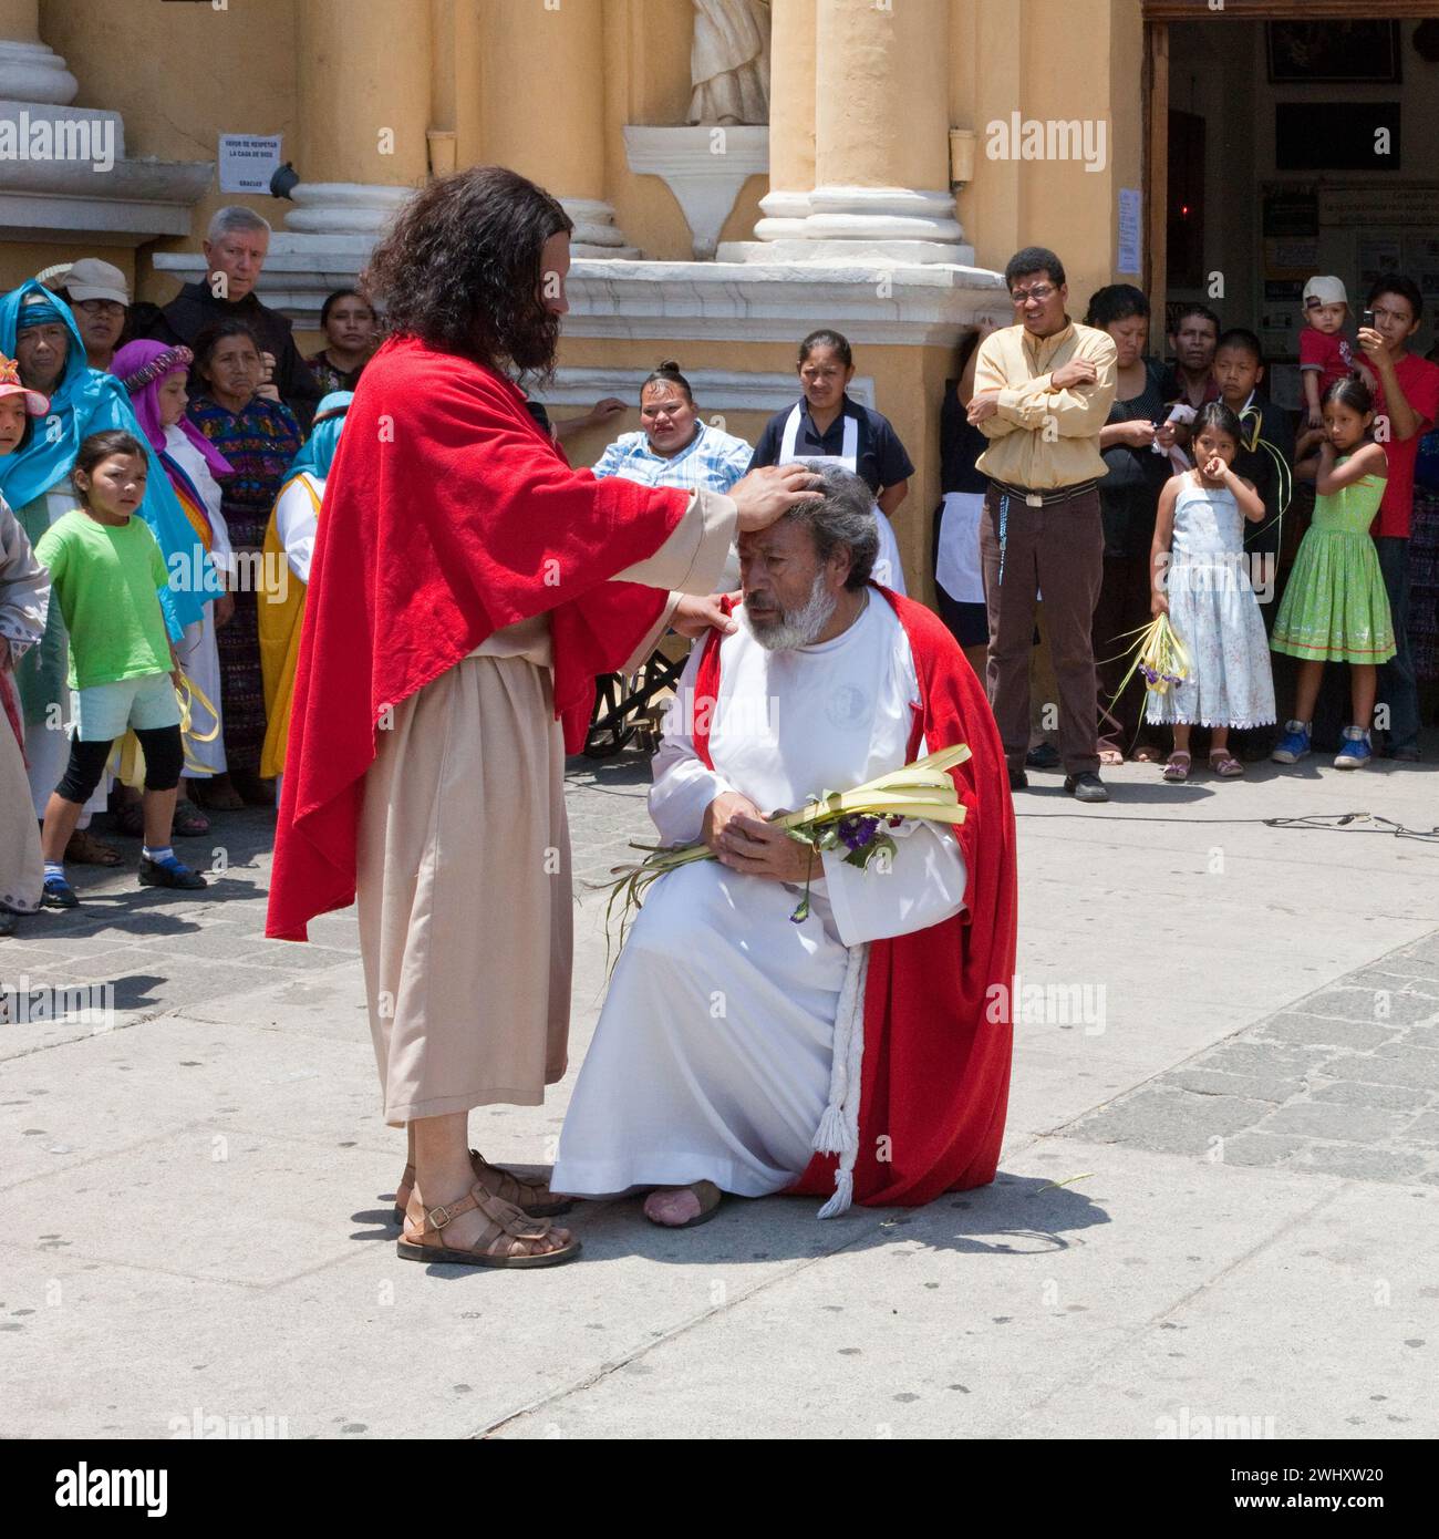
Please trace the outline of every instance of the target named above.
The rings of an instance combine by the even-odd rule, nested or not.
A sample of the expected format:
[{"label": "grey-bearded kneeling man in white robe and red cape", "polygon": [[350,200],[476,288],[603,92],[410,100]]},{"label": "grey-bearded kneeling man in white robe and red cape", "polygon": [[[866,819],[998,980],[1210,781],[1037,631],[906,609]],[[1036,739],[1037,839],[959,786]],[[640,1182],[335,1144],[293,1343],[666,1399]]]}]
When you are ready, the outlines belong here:
[{"label": "grey-bearded kneeling man in white robe and red cape", "polygon": [[[722,1193],[930,1202],[994,1177],[1010,1085],[1014,819],[983,691],[943,623],[870,582],[865,483],[740,536],[743,603],[699,643],[654,760],[660,877],[616,965],[553,1188],[659,1187],[657,1224]],[[906,820],[860,870],[765,819],[968,743],[965,822]],[[808,917],[796,911],[808,882]]]}]

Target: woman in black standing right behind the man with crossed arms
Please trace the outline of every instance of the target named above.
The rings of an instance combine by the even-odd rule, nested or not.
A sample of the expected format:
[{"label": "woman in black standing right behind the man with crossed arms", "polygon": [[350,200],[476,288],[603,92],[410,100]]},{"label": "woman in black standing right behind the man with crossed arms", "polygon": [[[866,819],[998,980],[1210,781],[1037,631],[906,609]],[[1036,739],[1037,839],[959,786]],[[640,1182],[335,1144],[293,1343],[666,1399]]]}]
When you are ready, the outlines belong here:
[{"label": "woman in black standing right behind the man with crossed arms", "polygon": [[[1159,365],[1145,359],[1150,334],[1150,302],[1128,283],[1111,283],[1090,300],[1087,326],[1114,339],[1119,351],[1119,389],[1110,420],[1099,429],[1099,451],[1108,476],[1099,483],[1103,519],[1103,582],[1094,606],[1094,663],[1099,674],[1100,763],[1123,763],[1139,737],[1134,757],[1151,760],[1156,746],[1144,720],[1144,680],[1137,674],[1123,696],[1110,703],[1128,668],[1136,637],[1131,631],[1150,622],[1150,546],[1159,492],[1173,474],[1170,449],[1174,429],[1165,426],[1168,405],[1160,388]],[[1156,452],[1156,445],[1159,452]]]}]

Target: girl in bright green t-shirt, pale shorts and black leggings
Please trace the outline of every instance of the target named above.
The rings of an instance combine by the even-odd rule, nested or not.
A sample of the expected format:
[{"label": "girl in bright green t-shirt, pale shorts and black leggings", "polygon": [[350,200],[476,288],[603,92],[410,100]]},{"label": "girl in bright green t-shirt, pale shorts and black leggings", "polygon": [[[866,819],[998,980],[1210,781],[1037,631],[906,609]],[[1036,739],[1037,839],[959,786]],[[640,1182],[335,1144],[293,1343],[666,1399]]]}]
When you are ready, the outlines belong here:
[{"label": "girl in bright green t-shirt, pale shorts and black leggings", "polygon": [[185,765],[180,668],[165,628],[160,589],[169,574],[149,525],[135,517],[149,462],[129,432],[91,434],[71,480],[80,506],[42,536],[35,556],[49,568],[51,603],[69,631],[75,728],[69,765],[45,808],[40,845],[49,908],[74,908],[65,846],[100,782],[114,740],[134,728],[145,749],[142,886],[205,886],[169,846],[175,788]]}]

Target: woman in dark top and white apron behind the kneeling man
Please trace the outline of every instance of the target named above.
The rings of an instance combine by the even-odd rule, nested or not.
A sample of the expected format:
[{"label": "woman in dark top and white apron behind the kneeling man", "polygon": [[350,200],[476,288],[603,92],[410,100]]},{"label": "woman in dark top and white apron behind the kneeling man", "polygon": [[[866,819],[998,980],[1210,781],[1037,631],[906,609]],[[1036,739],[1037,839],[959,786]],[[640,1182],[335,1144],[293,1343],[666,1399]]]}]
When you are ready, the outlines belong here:
[{"label": "woman in dark top and white apron behind the kneeling man", "polygon": [[805,337],[799,345],[797,372],[803,400],[770,419],[750,468],[803,460],[806,465],[842,465],[859,476],[876,497],[879,556],[874,580],[906,593],[890,514],[908,496],[914,465],[888,419],[845,394],[854,379],[854,354],[837,331],[826,328]]}]

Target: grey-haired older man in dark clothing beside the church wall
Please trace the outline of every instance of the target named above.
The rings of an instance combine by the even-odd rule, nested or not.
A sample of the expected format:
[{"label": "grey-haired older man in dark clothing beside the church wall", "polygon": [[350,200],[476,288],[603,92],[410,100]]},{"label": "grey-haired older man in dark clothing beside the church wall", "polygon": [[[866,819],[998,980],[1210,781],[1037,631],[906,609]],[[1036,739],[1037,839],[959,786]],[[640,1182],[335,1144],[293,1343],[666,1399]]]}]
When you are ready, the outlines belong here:
[{"label": "grey-haired older man in dark clothing beside the church wall", "polygon": [[269,225],[254,209],[242,205],[215,209],[205,237],[203,282],[186,283],[155,317],[149,336],[192,348],[195,337],[219,320],[246,322],[260,339],[269,383],[308,429],[320,386],[300,357],[289,320],[254,294],[268,251]]}]

